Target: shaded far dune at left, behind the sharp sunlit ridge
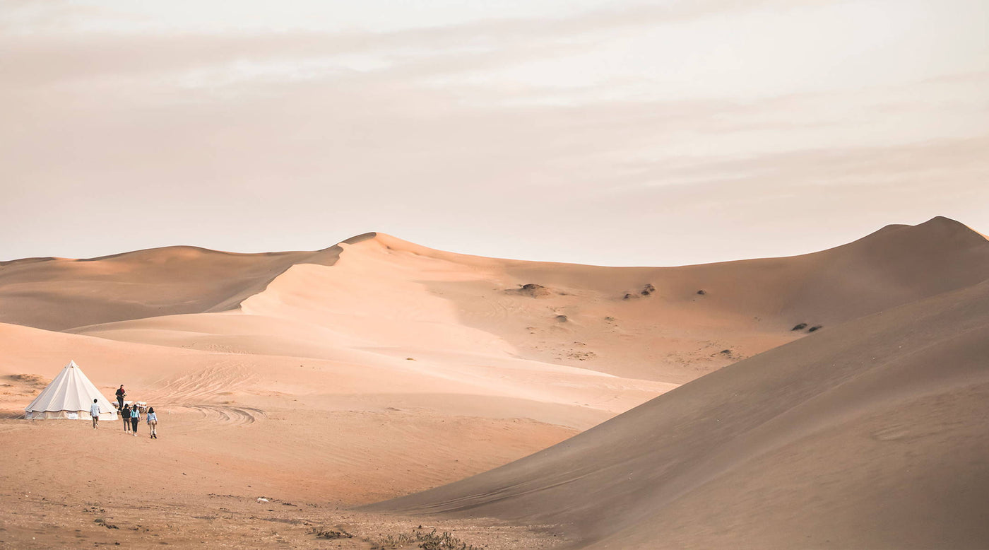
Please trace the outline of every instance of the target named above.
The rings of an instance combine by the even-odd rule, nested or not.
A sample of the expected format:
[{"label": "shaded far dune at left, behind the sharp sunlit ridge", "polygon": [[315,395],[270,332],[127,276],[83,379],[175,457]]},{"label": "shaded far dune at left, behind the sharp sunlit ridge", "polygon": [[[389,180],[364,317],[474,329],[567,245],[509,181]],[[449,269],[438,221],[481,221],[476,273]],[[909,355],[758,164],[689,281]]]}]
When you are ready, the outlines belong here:
[{"label": "shaded far dune at left, behind the sharp sunlit ridge", "polygon": [[[357,238],[357,237],[355,237]],[[300,262],[340,252],[234,254],[168,246],[90,259],[0,262],[0,321],[49,330],[98,322],[225,311]]]}]

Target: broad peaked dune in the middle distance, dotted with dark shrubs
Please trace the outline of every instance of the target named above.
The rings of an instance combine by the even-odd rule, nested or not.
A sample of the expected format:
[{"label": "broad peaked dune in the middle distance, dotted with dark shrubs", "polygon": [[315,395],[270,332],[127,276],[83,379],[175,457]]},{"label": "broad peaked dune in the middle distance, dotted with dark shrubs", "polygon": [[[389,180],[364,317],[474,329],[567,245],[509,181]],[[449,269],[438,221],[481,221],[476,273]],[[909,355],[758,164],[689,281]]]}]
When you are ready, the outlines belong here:
[{"label": "broad peaked dune in the middle distance, dotted with dark shrubs", "polygon": [[294,264],[263,291],[238,295],[233,311],[252,317],[251,328],[210,316],[73,331],[320,357],[344,347],[456,350],[680,384],[813,326],[963,288],[989,271],[989,242],[944,218],[814,254],[669,268],[481,258],[382,233],[336,248],[331,266]]}]

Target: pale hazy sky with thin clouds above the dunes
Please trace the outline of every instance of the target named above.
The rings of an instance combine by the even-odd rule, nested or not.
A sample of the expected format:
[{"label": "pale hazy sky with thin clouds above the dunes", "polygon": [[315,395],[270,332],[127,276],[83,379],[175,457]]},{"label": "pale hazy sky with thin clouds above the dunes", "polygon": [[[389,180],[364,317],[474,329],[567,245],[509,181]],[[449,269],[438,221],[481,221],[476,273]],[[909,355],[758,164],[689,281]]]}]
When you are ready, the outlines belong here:
[{"label": "pale hazy sky with thin clouds above the dunes", "polygon": [[984,0],[0,0],[0,260],[989,232]]}]

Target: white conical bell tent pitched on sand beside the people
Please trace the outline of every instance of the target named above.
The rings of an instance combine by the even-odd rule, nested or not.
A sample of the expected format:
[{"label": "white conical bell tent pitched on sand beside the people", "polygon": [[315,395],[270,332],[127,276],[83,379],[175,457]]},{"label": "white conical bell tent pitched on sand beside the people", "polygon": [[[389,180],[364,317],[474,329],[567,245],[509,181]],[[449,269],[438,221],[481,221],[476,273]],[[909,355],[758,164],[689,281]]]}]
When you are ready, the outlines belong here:
[{"label": "white conical bell tent pitched on sand beside the people", "polygon": [[88,420],[92,418],[89,408],[94,399],[100,406],[101,420],[117,419],[117,409],[82,374],[79,365],[75,361],[69,361],[51,384],[24,410],[25,417]]}]

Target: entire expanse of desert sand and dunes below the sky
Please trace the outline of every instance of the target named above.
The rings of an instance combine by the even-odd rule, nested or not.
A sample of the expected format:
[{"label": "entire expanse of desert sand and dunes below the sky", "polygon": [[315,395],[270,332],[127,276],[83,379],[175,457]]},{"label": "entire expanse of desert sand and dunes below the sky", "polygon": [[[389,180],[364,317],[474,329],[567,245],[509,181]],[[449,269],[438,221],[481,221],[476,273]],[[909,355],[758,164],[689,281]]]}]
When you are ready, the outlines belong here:
[{"label": "entire expanse of desert sand and dunes below the sky", "polygon": [[[683,267],[384,233],[4,262],[0,544],[986,547],[986,279],[944,218]],[[160,439],[23,419],[69,359]]]}]

